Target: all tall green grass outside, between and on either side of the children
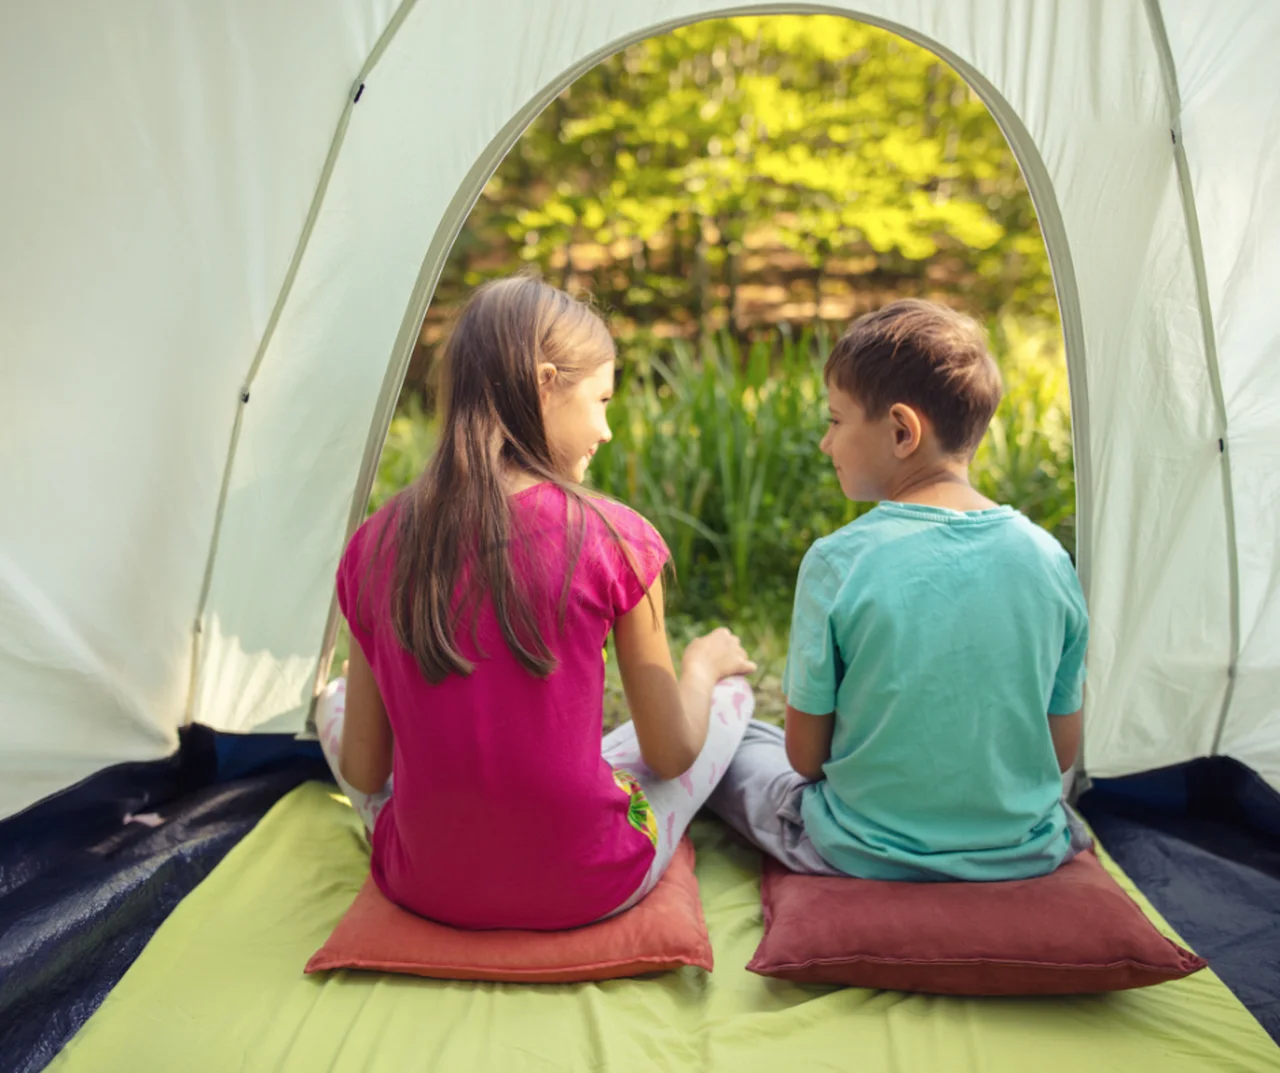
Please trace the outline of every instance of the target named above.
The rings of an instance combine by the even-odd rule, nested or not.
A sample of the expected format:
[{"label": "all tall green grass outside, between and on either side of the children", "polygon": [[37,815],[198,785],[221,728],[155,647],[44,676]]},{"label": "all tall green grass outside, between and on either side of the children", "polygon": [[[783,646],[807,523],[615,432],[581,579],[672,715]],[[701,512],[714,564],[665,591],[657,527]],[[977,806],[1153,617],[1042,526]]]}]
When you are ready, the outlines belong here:
[{"label": "all tall green grass outside, between and on either side of the children", "polygon": [[[974,460],[975,485],[1074,551],[1075,481],[1061,342],[1052,327],[991,327],[1005,398]],[[719,335],[623,352],[609,408],[613,440],[589,481],[632,506],[672,552],[672,613],[786,635],[808,547],[869,504],[844,498],[818,451],[827,423],[822,328],[776,333],[745,348]],[[421,471],[431,421],[408,397],[392,423],[370,510]],[[681,629],[677,625],[677,629]]]}]

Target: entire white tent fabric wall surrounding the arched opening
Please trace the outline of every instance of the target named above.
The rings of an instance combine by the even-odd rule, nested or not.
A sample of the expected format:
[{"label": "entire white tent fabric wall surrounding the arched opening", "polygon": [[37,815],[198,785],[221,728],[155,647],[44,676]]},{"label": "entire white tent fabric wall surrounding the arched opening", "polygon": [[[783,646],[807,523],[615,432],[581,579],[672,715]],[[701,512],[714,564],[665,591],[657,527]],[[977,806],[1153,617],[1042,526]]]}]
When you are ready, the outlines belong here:
[{"label": "entire white tent fabric wall surrounding the arched opening", "polygon": [[[1225,752],[1280,787],[1280,10],[732,13],[783,9],[934,50],[1023,164],[1073,384],[1088,770]],[[188,721],[303,725],[333,571],[485,179],[576,74],[724,13],[0,14],[0,816]]]}]

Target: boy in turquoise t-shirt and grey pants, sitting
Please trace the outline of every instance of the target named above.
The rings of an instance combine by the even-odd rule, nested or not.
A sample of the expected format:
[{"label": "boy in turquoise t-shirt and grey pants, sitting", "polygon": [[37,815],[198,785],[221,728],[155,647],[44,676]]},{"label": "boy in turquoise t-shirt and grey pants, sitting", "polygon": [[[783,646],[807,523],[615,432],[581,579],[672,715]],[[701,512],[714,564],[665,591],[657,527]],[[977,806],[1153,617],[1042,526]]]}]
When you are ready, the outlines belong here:
[{"label": "boy in turquoise t-shirt and grey pants, sitting", "polygon": [[969,484],[1001,397],[982,329],[899,301],[827,361],[822,452],[878,506],[796,581],[786,732],[753,722],[708,802],[796,872],[1014,880],[1089,845],[1062,802],[1088,618],[1066,552]]}]

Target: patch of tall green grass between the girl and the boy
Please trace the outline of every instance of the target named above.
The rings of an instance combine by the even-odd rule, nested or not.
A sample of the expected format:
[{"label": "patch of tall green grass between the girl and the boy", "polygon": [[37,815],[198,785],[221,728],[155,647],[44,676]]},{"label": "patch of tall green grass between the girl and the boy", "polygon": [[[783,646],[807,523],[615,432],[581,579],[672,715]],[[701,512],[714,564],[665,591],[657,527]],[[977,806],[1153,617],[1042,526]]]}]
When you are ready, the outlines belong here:
[{"label": "patch of tall green grass between the girl and the boy", "polygon": [[590,480],[649,517],[672,551],[672,604],[695,617],[776,618],[805,548],[855,516],[818,452],[824,333],[681,341],[623,362],[613,440]]}]

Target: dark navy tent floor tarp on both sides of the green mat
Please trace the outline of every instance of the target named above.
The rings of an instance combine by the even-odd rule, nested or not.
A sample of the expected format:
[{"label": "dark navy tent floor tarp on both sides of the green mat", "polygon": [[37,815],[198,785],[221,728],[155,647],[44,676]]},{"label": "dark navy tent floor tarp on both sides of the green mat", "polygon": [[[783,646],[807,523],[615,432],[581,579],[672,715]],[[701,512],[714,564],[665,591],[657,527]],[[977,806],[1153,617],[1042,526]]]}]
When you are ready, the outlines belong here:
[{"label": "dark navy tent floor tarp on both sides of the green mat", "polygon": [[[314,743],[184,732],[0,823],[0,1069],[36,1073],[155,930],[284,794],[328,779]],[[1215,758],[1105,780],[1102,844],[1280,1042],[1280,795]]]}]

